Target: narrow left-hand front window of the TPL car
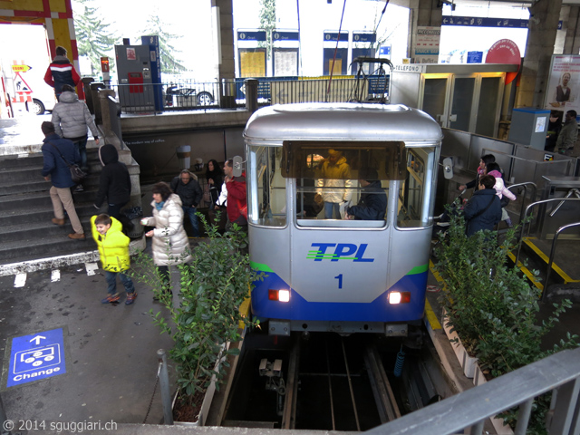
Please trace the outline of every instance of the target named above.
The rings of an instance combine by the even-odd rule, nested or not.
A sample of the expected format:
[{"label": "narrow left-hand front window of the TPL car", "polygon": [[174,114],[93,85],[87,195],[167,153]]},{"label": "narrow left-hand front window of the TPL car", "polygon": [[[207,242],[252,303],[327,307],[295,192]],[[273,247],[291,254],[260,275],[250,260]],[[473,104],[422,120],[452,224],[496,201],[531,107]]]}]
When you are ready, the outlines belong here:
[{"label": "narrow left-hand front window of the TPL car", "polygon": [[286,225],[286,180],[280,173],[282,148],[250,147],[247,220],[266,227]]}]

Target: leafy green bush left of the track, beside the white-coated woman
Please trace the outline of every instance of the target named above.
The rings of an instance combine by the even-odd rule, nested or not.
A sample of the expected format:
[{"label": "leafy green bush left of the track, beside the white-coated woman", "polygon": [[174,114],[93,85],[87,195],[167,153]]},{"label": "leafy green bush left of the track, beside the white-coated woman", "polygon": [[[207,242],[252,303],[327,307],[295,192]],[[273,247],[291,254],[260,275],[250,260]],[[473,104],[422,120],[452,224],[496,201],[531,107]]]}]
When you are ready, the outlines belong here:
[{"label": "leafy green bush left of the track, beside the white-coated woman", "polygon": [[227,355],[239,353],[227,345],[240,340],[239,323],[256,324],[239,311],[253,281],[259,279],[250,267],[249,256],[241,252],[247,246],[246,233],[234,225],[221,235],[200,213],[198,218],[206,227],[208,240],[192,249],[189,264],[178,266],[179,304],[163,293],[160,275],[149,256],[139,256],[136,263],[141,270],[134,273],[152,287],[166,309],[151,310],[150,314],[161,333],[173,338],[169,357],[178,387],[173,413],[174,420],[179,421],[198,420],[206,391],[213,383],[219,389],[224,381]]}]

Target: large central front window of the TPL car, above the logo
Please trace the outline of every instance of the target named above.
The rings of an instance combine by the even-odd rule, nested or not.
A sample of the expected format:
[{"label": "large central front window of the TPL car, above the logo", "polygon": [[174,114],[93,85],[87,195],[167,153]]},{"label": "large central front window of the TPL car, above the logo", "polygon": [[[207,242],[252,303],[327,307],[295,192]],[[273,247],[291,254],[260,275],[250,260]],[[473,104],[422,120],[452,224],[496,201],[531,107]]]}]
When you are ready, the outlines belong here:
[{"label": "large central front window of the TPL car, above the logo", "polygon": [[302,227],[385,227],[392,180],[406,176],[403,142],[285,141],[282,175],[295,179]]}]

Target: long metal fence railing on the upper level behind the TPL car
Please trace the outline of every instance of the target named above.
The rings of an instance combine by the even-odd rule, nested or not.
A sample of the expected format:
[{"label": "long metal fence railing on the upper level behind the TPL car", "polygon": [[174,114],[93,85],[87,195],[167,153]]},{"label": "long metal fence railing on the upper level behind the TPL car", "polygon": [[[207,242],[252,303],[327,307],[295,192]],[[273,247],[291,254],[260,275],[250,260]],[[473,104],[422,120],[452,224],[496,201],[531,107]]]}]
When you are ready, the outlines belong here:
[{"label": "long metal fence railing on the upper level behind the TPL car", "polygon": [[[160,84],[129,82],[111,85],[122,113],[160,113],[212,108],[233,109],[246,104],[247,79],[223,82],[179,81]],[[387,76],[263,77],[255,79],[258,105],[292,102],[389,101]]]}]

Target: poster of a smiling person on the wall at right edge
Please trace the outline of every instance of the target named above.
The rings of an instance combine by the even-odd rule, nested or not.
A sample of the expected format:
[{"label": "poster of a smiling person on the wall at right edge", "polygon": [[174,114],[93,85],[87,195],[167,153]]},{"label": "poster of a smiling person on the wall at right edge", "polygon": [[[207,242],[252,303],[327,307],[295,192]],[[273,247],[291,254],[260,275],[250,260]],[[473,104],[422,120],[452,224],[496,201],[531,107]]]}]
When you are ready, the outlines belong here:
[{"label": "poster of a smiling person on the wall at right edge", "polygon": [[546,88],[545,109],[580,112],[580,56],[555,54]]}]

